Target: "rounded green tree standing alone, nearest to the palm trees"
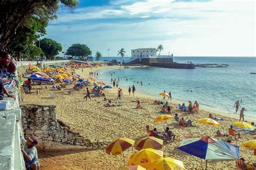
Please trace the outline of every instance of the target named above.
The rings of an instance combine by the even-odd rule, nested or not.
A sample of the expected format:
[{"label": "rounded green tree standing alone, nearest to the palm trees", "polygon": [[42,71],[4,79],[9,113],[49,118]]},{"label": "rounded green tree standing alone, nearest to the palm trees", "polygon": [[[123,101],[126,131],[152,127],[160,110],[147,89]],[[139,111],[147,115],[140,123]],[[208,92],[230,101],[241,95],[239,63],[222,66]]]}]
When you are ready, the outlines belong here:
[{"label": "rounded green tree standing alone, nearest to the palm trees", "polygon": [[72,56],[88,56],[91,55],[91,49],[85,44],[72,44],[66,51],[66,55]]}]

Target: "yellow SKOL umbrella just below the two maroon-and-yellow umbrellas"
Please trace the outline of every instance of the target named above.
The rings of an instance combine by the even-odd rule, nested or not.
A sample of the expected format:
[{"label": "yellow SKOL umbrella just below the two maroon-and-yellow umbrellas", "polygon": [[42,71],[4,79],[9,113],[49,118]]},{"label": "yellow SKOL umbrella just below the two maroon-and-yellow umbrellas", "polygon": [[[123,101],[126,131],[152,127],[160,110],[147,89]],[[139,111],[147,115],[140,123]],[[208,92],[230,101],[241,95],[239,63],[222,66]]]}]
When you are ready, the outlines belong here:
[{"label": "yellow SKOL umbrella just below the two maroon-and-yellow umbrellas", "polygon": [[163,157],[163,151],[146,148],[133,153],[129,160],[129,165],[140,165],[144,168],[149,167],[153,161]]}]

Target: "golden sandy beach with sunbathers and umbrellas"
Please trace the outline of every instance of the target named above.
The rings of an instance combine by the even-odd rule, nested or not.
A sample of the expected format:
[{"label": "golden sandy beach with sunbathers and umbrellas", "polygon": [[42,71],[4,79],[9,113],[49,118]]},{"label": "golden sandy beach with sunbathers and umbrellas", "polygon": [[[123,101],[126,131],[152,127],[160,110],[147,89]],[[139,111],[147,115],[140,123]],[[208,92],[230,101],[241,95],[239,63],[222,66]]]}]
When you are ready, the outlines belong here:
[{"label": "golden sandy beach with sunbathers and umbrellas", "polygon": [[[82,69],[75,69],[75,71],[87,79],[89,72],[97,72],[99,69],[109,68],[120,68],[120,66],[84,68],[83,73]],[[70,85],[66,89],[71,89],[72,87],[73,85]],[[92,88],[92,86],[89,87]],[[92,101],[85,101],[83,99],[85,89],[73,91],[71,95],[64,95],[62,91],[53,91],[51,88],[42,89],[38,95],[35,93],[35,90],[31,90],[31,94],[25,95],[24,102],[55,103],[57,106],[57,118],[68,124],[71,130],[79,132],[82,136],[92,141],[105,140],[110,142],[119,137],[138,140],[141,137],[147,136],[147,124],[150,125],[151,129],[157,128],[158,131],[163,131],[166,126],[169,126],[176,134],[176,140],[170,143],[165,142],[161,151],[164,151],[164,157],[182,160],[186,169],[203,169],[205,167],[205,160],[185,154],[177,149],[184,138],[184,134],[190,134],[191,137],[209,135],[213,138],[225,140],[225,138],[217,137],[216,131],[228,131],[230,125],[239,120],[239,116],[219,115],[210,110],[202,110],[201,108],[199,114],[187,114],[186,112],[178,111],[176,102],[170,102],[178,116],[191,119],[194,126],[179,126],[174,120],[153,124],[153,120],[160,115],[159,111],[161,109],[161,105],[153,104],[153,101],[159,100],[159,98],[139,93],[139,91],[136,91],[135,96],[129,96],[127,87],[124,87],[123,90],[119,107],[104,107],[104,104],[107,102],[103,101],[103,97],[96,97],[94,95],[91,95]],[[57,97],[50,98],[49,91],[52,91]],[[117,101],[117,88],[106,89],[105,94],[106,98]],[[142,101],[145,110],[136,109],[136,103],[131,102],[132,100]],[[210,113],[215,117],[221,117],[225,120],[218,121],[221,124],[220,128],[196,123],[197,119],[208,117]],[[242,142],[251,140],[253,137],[253,135],[242,132],[241,138],[232,140],[232,144],[240,147]],[[134,148],[129,148],[124,152],[126,165],[130,155],[136,151]],[[240,147],[240,156],[245,158],[247,162],[256,162],[253,150]],[[122,155],[108,155],[104,150],[39,151],[39,161],[42,165],[41,169],[122,169],[124,167]],[[208,169],[235,169],[235,161],[209,161]]]}]

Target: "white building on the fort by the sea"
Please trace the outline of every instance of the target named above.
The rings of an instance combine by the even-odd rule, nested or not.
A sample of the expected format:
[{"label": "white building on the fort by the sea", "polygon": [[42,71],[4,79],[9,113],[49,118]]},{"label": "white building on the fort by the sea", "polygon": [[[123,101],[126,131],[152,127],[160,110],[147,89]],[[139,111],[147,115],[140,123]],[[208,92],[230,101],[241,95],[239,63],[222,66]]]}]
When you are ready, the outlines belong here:
[{"label": "white building on the fort by the sea", "polygon": [[156,58],[156,48],[137,48],[131,50],[131,58]]}]

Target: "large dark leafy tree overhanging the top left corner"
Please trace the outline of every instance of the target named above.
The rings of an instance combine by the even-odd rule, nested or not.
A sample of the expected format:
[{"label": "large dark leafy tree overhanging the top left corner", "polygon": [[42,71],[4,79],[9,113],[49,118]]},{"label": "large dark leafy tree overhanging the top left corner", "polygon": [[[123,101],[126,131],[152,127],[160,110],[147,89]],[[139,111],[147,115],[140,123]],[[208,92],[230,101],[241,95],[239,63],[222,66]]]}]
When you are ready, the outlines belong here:
[{"label": "large dark leafy tree overhanging the top left corner", "polygon": [[0,2],[0,49],[17,55],[40,53],[32,43],[46,33],[49,20],[56,19],[59,3],[72,9],[78,0]]}]

